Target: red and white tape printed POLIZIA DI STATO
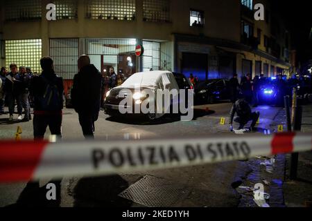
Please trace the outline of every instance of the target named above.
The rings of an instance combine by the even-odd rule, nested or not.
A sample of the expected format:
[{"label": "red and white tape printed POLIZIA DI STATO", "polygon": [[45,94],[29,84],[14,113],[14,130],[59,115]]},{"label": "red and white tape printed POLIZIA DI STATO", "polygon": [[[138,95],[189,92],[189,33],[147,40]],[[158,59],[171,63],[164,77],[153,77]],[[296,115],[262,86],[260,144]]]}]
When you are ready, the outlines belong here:
[{"label": "red and white tape printed POLIZIA DI STATO", "polygon": [[191,139],[0,141],[0,182],[170,169],[312,150],[312,135],[277,133]]}]

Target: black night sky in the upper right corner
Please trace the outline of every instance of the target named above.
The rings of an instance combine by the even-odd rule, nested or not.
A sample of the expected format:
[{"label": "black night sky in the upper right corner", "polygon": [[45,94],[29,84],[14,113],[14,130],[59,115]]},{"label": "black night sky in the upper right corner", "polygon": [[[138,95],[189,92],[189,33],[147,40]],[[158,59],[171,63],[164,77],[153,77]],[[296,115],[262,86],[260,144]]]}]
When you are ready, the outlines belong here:
[{"label": "black night sky in the upper right corner", "polygon": [[303,64],[312,59],[312,39],[309,39],[312,28],[311,1],[271,1],[273,8],[284,17],[291,30],[291,48],[297,50],[297,61]]}]

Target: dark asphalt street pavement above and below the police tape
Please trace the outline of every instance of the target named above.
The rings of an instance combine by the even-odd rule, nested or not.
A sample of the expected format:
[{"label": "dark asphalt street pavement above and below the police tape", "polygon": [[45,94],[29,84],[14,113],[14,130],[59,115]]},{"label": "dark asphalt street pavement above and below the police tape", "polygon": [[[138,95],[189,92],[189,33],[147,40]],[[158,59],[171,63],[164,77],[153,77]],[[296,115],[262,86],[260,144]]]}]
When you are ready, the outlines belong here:
[{"label": "dark asphalt street pavement above and below the police tape", "polygon": [[[179,119],[166,116],[152,124],[138,119],[112,118],[101,111],[98,122],[96,122],[95,136],[96,139],[102,140],[144,140],[151,137],[164,139],[190,137],[191,135],[227,135],[230,133],[228,125],[230,108],[231,104],[229,103],[196,106],[194,119],[190,122],[182,122]],[[257,133],[264,133],[266,130],[274,133],[277,131],[279,124],[286,126],[285,119],[281,116],[284,113],[282,108],[259,106],[255,110],[261,112]],[[17,116],[15,115],[15,117]],[[225,125],[220,124],[221,117],[225,117]],[[15,121],[8,123],[7,118],[8,115],[0,116],[1,140],[14,139],[17,126],[22,128],[22,139],[33,138],[32,122]],[[46,137],[48,136],[49,130],[46,133]],[[62,139],[83,139],[78,123],[78,115],[71,109],[64,109]],[[248,194],[244,196],[245,193],[237,190],[238,186],[233,186],[235,182],[254,184],[250,182],[252,176],[253,178],[257,176],[257,182],[259,180],[261,182],[263,169],[255,169],[255,165],[259,166],[259,159],[248,162],[224,162],[132,174],[121,173],[105,177],[66,177],[60,185],[60,200],[56,204],[44,204],[40,202],[42,198],[33,197],[33,195],[45,194],[45,185],[49,180],[40,180],[40,189],[33,191],[28,191],[28,188],[25,189],[26,183],[1,184],[0,206],[33,204],[37,206],[136,207],[153,204],[148,202],[148,198],[153,199],[152,193],[161,196],[161,199],[159,197],[154,199],[155,206],[257,206],[251,202]],[[281,173],[281,168],[278,168],[278,166],[276,170],[277,173],[273,173],[270,179],[274,180],[274,176]],[[138,200],[134,200],[136,202],[125,200],[125,198],[119,196],[129,186],[138,184],[142,180],[146,180],[146,186],[143,189],[153,191],[142,192],[142,189],[135,189],[141,196]],[[256,181],[254,180],[254,182]],[[162,188],[162,185],[171,186],[172,188]],[[152,195],[146,195],[147,192]],[[278,190],[277,194],[279,193]],[[144,195],[147,198],[145,203]],[[17,204],[17,201],[19,204]],[[278,205],[275,204],[275,206]]]}]

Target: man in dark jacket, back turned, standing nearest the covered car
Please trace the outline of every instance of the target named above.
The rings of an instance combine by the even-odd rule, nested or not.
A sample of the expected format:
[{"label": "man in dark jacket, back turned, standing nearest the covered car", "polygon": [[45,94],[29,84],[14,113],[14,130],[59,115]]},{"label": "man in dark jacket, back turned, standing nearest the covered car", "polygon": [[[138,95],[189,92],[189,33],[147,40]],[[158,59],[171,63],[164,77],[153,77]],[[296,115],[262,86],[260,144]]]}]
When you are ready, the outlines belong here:
[{"label": "man in dark jacket, back turned, standing nearest the covered car", "polygon": [[101,108],[103,77],[90,58],[82,55],[78,59],[79,73],[73,78],[71,102],[79,115],[79,123],[85,138],[94,139],[94,122]]}]

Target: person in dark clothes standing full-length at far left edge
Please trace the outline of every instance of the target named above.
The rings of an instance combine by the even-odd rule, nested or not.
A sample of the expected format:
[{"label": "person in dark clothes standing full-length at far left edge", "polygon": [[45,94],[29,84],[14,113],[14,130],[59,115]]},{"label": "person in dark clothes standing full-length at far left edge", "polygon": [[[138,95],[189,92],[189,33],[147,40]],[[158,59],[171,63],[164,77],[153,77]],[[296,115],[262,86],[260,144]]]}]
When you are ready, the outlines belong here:
[{"label": "person in dark clothes standing full-length at far left edge", "polygon": [[[13,113],[15,111],[15,102],[19,104],[19,94],[21,93],[21,81],[19,80],[19,73],[16,64],[10,64],[11,72],[6,76],[6,82],[4,84],[4,91],[6,98],[8,99],[9,107],[9,121],[13,120]],[[21,119],[23,110],[21,106],[17,105],[18,119]]]}]

